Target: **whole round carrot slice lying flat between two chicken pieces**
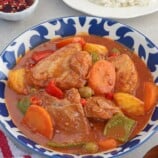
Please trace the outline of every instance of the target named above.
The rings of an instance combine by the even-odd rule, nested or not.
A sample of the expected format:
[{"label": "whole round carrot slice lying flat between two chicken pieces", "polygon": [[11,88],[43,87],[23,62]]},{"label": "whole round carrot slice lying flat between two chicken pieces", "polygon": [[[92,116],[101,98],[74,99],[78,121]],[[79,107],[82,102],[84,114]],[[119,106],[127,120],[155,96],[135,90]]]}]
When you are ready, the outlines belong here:
[{"label": "whole round carrot slice lying flat between two chicken pieces", "polygon": [[115,85],[115,68],[109,61],[99,60],[91,68],[88,75],[88,85],[95,94],[109,93]]}]

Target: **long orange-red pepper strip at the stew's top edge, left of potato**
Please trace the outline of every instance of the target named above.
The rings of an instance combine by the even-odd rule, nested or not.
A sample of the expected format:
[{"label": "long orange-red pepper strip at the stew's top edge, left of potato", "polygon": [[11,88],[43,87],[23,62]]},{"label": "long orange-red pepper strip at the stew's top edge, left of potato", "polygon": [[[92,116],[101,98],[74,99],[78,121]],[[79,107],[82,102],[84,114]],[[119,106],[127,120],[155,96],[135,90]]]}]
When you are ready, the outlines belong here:
[{"label": "long orange-red pepper strip at the stew's top edge, left of potato", "polygon": [[80,43],[81,46],[83,47],[85,45],[85,40],[82,37],[69,37],[69,38],[65,38],[61,41],[58,41],[56,43],[56,48],[62,48],[70,43]]}]

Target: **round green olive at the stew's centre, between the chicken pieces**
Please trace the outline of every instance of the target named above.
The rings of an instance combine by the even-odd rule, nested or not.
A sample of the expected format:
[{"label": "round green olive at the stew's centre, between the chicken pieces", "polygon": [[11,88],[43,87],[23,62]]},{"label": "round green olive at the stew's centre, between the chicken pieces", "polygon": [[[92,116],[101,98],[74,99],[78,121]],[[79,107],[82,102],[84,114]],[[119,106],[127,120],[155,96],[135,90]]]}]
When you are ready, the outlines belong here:
[{"label": "round green olive at the stew's centre, between the chicken pieces", "polygon": [[93,90],[88,86],[79,88],[79,93],[82,98],[89,98],[94,94]]}]

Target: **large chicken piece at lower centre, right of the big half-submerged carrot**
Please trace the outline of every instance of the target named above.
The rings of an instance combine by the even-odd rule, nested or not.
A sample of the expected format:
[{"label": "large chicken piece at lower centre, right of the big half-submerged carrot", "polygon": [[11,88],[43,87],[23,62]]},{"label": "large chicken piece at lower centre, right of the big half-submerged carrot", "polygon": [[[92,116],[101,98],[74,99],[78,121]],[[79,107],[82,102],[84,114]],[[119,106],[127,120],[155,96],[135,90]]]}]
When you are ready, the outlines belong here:
[{"label": "large chicken piece at lower centre, right of the big half-submerged carrot", "polygon": [[80,103],[80,95],[77,89],[66,91],[64,99],[50,96],[44,91],[39,94],[43,106],[51,115],[58,135],[62,141],[81,141],[89,133],[89,122]]}]

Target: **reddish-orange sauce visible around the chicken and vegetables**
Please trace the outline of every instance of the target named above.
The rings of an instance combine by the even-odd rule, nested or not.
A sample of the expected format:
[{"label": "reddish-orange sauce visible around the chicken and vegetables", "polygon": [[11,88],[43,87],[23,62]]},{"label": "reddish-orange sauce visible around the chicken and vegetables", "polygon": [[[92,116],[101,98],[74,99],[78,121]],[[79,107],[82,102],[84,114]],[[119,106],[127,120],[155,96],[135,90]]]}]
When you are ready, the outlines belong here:
[{"label": "reddish-orange sauce visible around the chicken and vegetables", "polygon": [[[127,49],[125,46],[123,46],[120,43],[117,43],[111,39],[97,37],[97,36],[93,36],[93,35],[91,35],[91,36],[82,35],[80,37],[82,37],[86,42],[106,46],[107,49],[109,50],[109,52],[112,51],[113,48],[116,48],[121,52],[121,54],[127,54],[128,56],[130,56],[130,58],[133,60],[133,62],[135,64],[136,70],[138,72],[138,77],[139,77],[139,84],[136,89],[135,96],[138,97],[139,99],[143,100],[143,86],[144,86],[143,83],[147,82],[147,81],[153,82],[153,77],[152,77],[150,71],[147,69],[144,62],[137,55],[135,55],[131,50]],[[56,41],[58,41],[58,39],[44,43],[44,44],[34,48],[33,50],[29,51],[18,62],[18,64],[15,66],[14,69],[18,69],[18,68],[21,68],[22,66],[24,66],[26,64],[26,62],[28,61],[28,59],[36,51],[48,50],[48,49],[54,50],[53,43],[55,43]],[[45,136],[42,136],[39,133],[32,132],[31,130],[29,130],[29,128],[26,125],[21,123],[21,120],[23,119],[24,115],[19,111],[19,109],[17,107],[17,102],[23,96],[24,95],[17,94],[15,91],[10,89],[9,87],[6,87],[5,98],[6,98],[6,103],[7,103],[7,108],[8,108],[9,114],[12,117],[14,124],[28,138],[30,138],[31,140],[37,142],[38,144],[40,144],[42,146],[48,147],[48,146],[46,146],[47,142],[50,141],[48,138],[46,138]],[[153,111],[153,109],[151,109],[148,113],[146,113],[143,116],[130,116],[130,118],[137,121],[136,128],[134,128],[132,134],[130,135],[130,138],[137,135],[144,128],[144,126],[147,124],[148,120],[150,119],[150,117],[152,115],[152,111]],[[90,122],[91,122],[90,123],[91,124],[90,134],[88,135],[88,137],[87,136],[85,137],[85,141],[89,140],[89,141],[97,143],[97,141],[99,139],[105,138],[105,136],[103,135],[103,130],[104,130],[106,121],[97,121],[95,119],[90,119]],[[75,134],[74,134],[73,137],[77,137],[77,135],[75,136]],[[65,133],[58,133],[58,131],[55,131],[52,140],[55,142],[62,142],[62,140],[66,140]],[[67,141],[69,141],[69,140],[71,140],[70,137],[68,138]],[[121,144],[121,143],[119,142],[119,144]],[[79,153],[79,154],[85,153],[81,148],[54,148],[54,150],[58,150],[61,152],[68,152],[68,153]],[[99,148],[99,151],[104,151],[104,150],[105,149],[103,149],[101,147]]]}]

